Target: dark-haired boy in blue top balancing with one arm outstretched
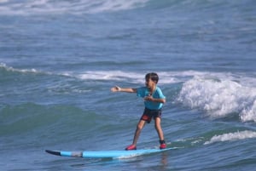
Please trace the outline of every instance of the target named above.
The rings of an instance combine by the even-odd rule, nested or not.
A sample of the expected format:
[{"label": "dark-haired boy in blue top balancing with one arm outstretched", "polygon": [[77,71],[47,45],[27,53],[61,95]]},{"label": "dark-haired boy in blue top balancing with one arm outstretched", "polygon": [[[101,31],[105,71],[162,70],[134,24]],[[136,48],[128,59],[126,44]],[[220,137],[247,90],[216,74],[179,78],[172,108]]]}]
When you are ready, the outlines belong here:
[{"label": "dark-haired boy in blue top balancing with one arm outstretched", "polygon": [[138,97],[142,97],[144,100],[145,109],[143,116],[139,123],[137,123],[137,129],[134,134],[133,142],[131,145],[125,148],[126,151],[137,150],[137,140],[145,125],[150,123],[152,117],[154,117],[154,128],[156,129],[160,139],[160,149],[166,148],[166,142],[164,140],[164,134],[160,125],[161,122],[161,108],[166,103],[166,97],[162,94],[159,87],[156,86],[159,77],[156,73],[148,73],[145,76],[145,87],[141,88],[119,88],[115,86],[111,88],[112,92],[126,92],[126,93],[137,93]]}]

